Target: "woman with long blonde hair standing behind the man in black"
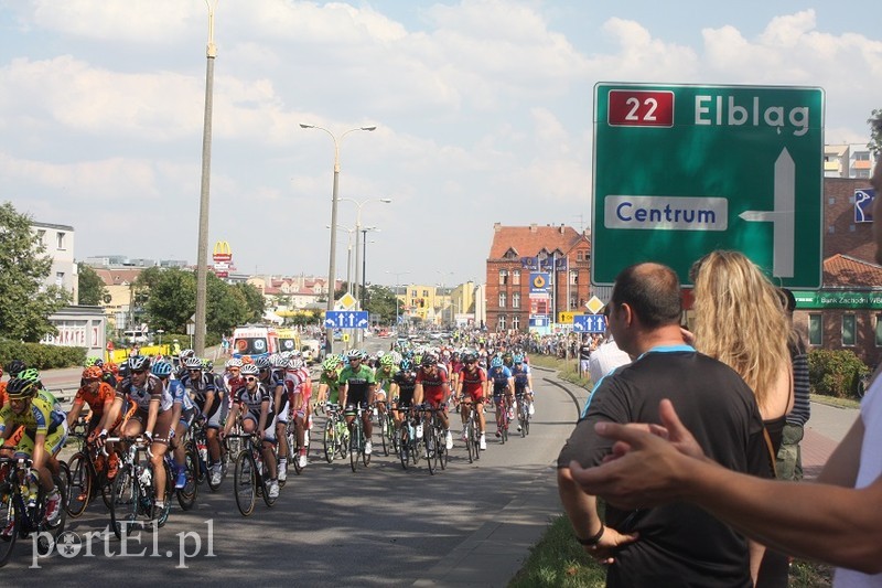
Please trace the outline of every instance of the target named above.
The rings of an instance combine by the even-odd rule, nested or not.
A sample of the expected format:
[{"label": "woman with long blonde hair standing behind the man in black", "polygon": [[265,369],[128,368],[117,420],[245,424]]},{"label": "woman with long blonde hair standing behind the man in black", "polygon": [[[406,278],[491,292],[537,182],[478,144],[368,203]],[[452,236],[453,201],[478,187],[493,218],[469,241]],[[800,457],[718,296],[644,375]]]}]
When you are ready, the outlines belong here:
[{"label": "woman with long blonde hair standing behind the man in black", "polygon": [[[772,447],[781,449],[785,417],[793,408],[787,348],[790,323],[781,293],[739,252],[712,252],[692,266],[695,348],[741,375],[753,389]],[[787,586],[787,558],[751,545],[751,576],[759,587]],[[762,566],[762,568],[761,568]]]}]

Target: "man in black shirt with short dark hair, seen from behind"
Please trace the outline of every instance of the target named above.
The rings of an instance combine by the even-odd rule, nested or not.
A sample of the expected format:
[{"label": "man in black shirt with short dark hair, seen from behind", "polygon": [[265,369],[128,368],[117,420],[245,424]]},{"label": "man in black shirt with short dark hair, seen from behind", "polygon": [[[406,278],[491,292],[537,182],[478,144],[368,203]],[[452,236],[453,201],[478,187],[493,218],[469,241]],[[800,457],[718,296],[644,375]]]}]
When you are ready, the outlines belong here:
[{"label": "man in black shirt with short dark hair, seen from behind", "polygon": [[659,424],[658,403],[670,398],[704,453],[735,471],[770,477],[770,453],[754,395],[727,365],[686,345],[679,329],[680,285],[670,268],[638,264],[615,280],[609,328],[635,357],[592,391],[558,457],[558,487],[577,539],[611,564],[607,586],[750,587],[747,542],[706,511],[686,503],[621,511],[574,483],[569,463],[602,462],[612,441],[594,424]]}]

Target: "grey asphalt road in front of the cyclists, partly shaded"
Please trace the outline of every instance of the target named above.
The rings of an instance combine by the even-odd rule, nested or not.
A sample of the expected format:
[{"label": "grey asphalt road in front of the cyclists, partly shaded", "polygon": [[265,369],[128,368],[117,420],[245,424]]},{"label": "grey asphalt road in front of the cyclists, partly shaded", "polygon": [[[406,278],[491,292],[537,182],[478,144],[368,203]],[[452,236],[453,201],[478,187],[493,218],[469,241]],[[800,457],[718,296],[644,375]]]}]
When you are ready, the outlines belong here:
[{"label": "grey asphalt road in front of the cyclists, partly shaded", "polygon": [[[431,570],[437,576],[454,559],[451,554],[459,553],[458,546],[482,526],[513,515],[530,518],[528,506],[519,513],[506,506],[524,504],[525,493],[537,488],[547,494],[553,460],[580,402],[548,377],[537,373],[534,379],[539,400],[530,435],[501,446],[491,434],[487,451],[476,463],[467,462],[464,447],[456,442],[447,470],[435,475],[423,462],[404,471],[394,455],[376,451],[368,468],[353,473],[348,461],[329,464],[320,456],[318,419],[310,466],[301,475],[291,471],[272,509],[258,499],[254,514],[243,517],[228,479],[217,493],[202,487],[193,511],[183,512],[175,502],[155,538],[148,532],[140,543],[129,539],[125,552],[130,555],[121,555],[116,538],[96,535],[88,556],[86,533],[109,523],[98,500],[80,518],[68,521],[67,530],[80,542],[78,555],[55,553],[34,563],[32,541],[21,541],[0,577],[7,585],[86,585],[111,574],[114,581],[127,585],[337,587],[409,586]],[[191,556],[183,559],[184,553]],[[40,569],[29,569],[32,565]],[[506,575],[497,578],[504,585],[510,574],[499,574]]]}]

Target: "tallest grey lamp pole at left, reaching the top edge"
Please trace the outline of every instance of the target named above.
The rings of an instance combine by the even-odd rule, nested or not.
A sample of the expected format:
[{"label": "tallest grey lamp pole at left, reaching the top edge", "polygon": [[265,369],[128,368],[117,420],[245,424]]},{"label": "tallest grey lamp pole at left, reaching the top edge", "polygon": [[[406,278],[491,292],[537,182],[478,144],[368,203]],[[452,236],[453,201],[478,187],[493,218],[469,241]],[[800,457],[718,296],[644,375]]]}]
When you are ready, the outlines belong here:
[{"label": "tallest grey lamp pole at left, reaching the top edge", "polygon": [[200,191],[200,233],[196,250],[196,317],[194,349],[200,357],[205,355],[205,308],[208,281],[208,195],[212,172],[212,107],[214,103],[214,11],[219,0],[205,0],[208,7],[208,44],[205,47],[205,119],[202,130],[202,189]]}]

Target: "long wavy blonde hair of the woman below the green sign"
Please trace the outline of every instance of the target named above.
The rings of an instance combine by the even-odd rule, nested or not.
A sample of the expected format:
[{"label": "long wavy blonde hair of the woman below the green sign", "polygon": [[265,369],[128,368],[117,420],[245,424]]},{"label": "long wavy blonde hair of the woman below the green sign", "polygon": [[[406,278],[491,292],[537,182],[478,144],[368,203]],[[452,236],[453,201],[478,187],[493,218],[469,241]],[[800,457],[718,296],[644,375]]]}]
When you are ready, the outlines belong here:
[{"label": "long wavy blonde hair of the woman below the green sign", "polygon": [[790,324],[772,282],[739,252],[712,252],[692,266],[695,346],[741,375],[763,407],[783,365]]}]

